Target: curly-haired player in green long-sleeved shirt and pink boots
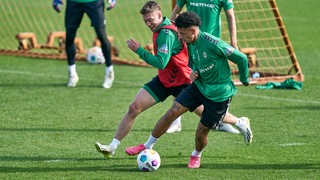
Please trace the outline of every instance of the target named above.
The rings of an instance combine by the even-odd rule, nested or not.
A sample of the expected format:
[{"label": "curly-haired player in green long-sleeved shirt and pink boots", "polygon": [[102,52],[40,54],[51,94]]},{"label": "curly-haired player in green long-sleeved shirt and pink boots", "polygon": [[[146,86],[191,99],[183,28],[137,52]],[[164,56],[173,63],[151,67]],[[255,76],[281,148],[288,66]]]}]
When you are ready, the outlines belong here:
[{"label": "curly-haired player in green long-sleeved shirt and pink boots", "polygon": [[[190,78],[193,83],[176,97],[172,107],[158,120],[149,139],[144,144],[128,147],[125,151],[129,155],[136,155],[144,149],[152,149],[175,118],[203,105],[204,110],[196,130],[195,148],[187,166],[199,168],[201,154],[208,143],[208,134],[223,121],[231,99],[237,92],[230,77],[228,60],[238,66],[242,84],[249,86],[248,59],[223,40],[202,32],[199,29],[201,20],[194,12],[180,14],[175,24],[180,38],[188,44],[188,56],[192,65]],[[235,125],[246,144],[250,144],[253,135],[249,120],[237,121]]]}]

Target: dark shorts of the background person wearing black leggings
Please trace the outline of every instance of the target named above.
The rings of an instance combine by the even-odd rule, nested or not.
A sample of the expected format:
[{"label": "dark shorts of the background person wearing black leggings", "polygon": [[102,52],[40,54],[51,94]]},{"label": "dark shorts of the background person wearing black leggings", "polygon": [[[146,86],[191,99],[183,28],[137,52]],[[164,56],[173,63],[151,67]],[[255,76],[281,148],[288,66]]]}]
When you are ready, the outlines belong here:
[{"label": "dark shorts of the background person wearing black leggings", "polygon": [[84,13],[89,16],[91,26],[97,28],[104,27],[106,25],[104,7],[104,0],[97,0],[89,3],[78,3],[67,0],[65,27],[78,28]]}]

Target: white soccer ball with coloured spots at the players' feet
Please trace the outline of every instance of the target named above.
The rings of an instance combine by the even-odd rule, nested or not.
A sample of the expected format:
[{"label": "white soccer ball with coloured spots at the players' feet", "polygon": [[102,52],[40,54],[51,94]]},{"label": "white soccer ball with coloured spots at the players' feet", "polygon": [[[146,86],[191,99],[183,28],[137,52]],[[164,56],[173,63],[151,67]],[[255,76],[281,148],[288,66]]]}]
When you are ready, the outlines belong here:
[{"label": "white soccer ball with coloured spots at the players' feet", "polygon": [[137,156],[138,168],[143,172],[152,172],[159,169],[161,159],[157,151],[145,149]]}]

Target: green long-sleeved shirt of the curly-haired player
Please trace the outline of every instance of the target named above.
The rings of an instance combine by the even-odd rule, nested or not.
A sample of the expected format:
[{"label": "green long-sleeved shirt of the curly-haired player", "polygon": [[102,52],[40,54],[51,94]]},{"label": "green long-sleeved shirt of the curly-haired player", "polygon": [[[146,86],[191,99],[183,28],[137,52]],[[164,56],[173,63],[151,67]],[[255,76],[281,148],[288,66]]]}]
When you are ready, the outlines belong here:
[{"label": "green long-sleeved shirt of the curly-haired player", "polygon": [[193,71],[199,73],[197,87],[215,102],[225,101],[237,92],[228,59],[237,64],[240,81],[249,82],[247,56],[209,33],[200,32],[198,39],[188,44],[188,52]]}]

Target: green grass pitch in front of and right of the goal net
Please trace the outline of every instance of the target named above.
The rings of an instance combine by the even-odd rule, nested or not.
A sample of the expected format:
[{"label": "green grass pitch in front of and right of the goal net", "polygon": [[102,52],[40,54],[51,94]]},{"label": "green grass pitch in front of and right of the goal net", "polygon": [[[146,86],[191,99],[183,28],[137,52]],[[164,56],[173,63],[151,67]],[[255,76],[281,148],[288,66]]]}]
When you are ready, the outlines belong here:
[{"label": "green grass pitch in front of and right of the goal net", "polygon": [[[294,50],[305,74],[296,90],[238,87],[230,112],[248,116],[254,142],[242,136],[210,133],[202,167],[186,168],[198,118],[183,116],[183,130],[165,134],[155,146],[162,165],[139,172],[124,148],[147,140],[172,101],[137,119],[112,159],[96,152],[109,143],[129,103],[152,68],[115,66],[110,90],[101,87],[104,67],[77,63],[78,87],[67,88],[65,61],[0,57],[1,179],[317,179],[320,177],[320,77],[316,0],[278,1]],[[295,11],[299,9],[299,13]],[[151,37],[150,37],[151,38]]]}]

